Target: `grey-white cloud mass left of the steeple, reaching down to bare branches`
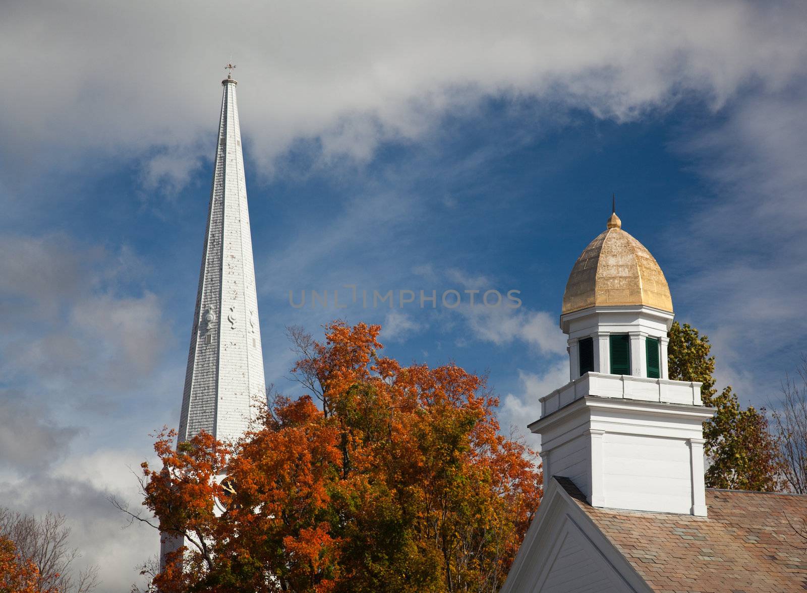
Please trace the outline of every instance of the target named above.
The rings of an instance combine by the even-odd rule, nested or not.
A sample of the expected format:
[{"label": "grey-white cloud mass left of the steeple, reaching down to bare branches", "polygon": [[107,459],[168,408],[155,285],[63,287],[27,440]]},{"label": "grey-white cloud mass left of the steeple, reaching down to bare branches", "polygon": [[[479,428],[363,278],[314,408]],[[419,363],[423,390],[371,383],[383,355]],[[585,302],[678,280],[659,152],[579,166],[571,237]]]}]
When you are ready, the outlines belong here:
[{"label": "grey-white cloud mass left of the steeple, reaching down to bare branches", "polygon": [[132,296],[147,267],[126,247],[0,234],[0,251],[0,500],[65,514],[79,564],[101,565],[102,590],[128,591],[157,534],[121,530],[107,496],[140,504],[127,465],[139,467],[146,434],[178,405],[163,403],[181,393],[164,359],[173,332],[157,296]]}]

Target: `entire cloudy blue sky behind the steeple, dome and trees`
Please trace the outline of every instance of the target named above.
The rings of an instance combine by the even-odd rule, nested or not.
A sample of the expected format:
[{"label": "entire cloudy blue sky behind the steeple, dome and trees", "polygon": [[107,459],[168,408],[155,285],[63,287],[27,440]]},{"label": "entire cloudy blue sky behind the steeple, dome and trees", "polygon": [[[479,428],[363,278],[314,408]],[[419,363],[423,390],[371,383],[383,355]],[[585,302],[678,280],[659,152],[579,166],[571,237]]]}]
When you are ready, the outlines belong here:
[{"label": "entire cloudy blue sky behind the steeple, dome and trees", "polygon": [[[567,378],[562,292],[612,193],[720,386],[767,404],[807,350],[803,5],[336,6],[0,9],[0,504],[68,514],[105,590],[156,551],[105,496],[136,504],[127,466],[178,422],[231,53],[280,390],[284,327],[344,317],[489,371],[524,427]],[[289,304],[345,284],[522,306]]]}]

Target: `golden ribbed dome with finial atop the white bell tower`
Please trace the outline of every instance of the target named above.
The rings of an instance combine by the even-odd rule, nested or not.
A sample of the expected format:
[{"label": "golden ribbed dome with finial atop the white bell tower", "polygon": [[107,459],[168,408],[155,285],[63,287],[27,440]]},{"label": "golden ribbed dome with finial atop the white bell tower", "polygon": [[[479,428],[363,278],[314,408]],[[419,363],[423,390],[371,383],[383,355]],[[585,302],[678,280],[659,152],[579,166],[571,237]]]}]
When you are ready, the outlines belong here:
[{"label": "golden ribbed dome with finial atop the white bell tower", "polygon": [[646,305],[672,313],[667,279],[650,251],[622,230],[617,214],[571,268],[562,313],[600,305]]}]

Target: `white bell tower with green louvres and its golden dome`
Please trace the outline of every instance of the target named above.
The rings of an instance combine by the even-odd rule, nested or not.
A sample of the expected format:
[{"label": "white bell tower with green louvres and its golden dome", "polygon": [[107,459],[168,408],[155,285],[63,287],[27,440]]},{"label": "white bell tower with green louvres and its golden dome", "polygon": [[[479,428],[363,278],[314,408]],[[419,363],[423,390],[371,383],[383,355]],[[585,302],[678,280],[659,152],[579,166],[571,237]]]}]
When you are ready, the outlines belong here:
[{"label": "white bell tower with green louvres and its golden dome", "polygon": [[571,479],[595,507],[706,516],[700,383],[672,381],[667,280],[616,213],[572,268],[560,317],[570,382],[541,397],[545,483]]}]

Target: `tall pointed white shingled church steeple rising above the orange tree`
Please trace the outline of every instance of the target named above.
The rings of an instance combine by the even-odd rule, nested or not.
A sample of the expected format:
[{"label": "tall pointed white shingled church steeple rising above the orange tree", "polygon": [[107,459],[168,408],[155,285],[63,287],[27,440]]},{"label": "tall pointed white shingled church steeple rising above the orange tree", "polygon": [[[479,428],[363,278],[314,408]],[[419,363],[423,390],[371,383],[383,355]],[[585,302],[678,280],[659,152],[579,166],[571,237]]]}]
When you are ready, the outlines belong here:
[{"label": "tall pointed white shingled church steeple rising above the orange tree", "polygon": [[[233,67],[228,67],[233,68]],[[218,146],[199,274],[179,440],[201,430],[234,440],[266,400],[255,268],[241,154],[236,85],[221,83]]]}]

